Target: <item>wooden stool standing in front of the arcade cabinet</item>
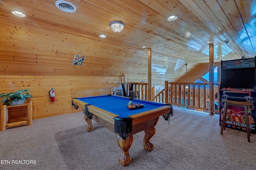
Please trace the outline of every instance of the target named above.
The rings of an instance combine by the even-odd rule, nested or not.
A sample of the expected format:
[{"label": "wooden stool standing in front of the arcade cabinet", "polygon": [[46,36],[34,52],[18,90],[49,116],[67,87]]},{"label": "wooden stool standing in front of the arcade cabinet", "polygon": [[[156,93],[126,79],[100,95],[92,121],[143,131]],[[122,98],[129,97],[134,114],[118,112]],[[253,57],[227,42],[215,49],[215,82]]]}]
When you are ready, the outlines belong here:
[{"label": "wooden stool standing in front of the arcade cabinet", "polygon": [[250,125],[249,125],[249,117],[248,117],[247,106],[250,106],[251,104],[249,102],[238,102],[238,101],[232,101],[232,100],[222,100],[221,102],[224,103],[224,112],[223,112],[223,119],[222,119],[222,124],[221,124],[220,135],[222,135],[223,129],[225,129],[226,125],[232,125],[232,126],[235,126],[235,127],[244,128],[243,126],[240,126],[240,125],[233,125],[233,124],[230,124],[230,123],[226,123],[228,105],[230,105],[230,106],[240,106],[240,107],[244,107],[244,115],[245,115],[245,119],[246,119],[247,139],[248,139],[248,142],[250,142]]}]

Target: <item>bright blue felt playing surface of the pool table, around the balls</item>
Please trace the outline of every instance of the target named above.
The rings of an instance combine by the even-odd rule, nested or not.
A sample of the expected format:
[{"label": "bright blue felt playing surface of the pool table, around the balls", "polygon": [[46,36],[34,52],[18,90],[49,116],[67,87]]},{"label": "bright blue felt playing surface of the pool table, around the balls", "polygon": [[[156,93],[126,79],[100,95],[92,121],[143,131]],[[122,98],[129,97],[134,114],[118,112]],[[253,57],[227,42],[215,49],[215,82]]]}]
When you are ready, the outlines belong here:
[{"label": "bright blue felt playing surface of the pool table, around the balls", "polygon": [[[130,115],[135,115],[137,113],[142,113],[144,111],[150,111],[152,109],[166,106],[166,104],[163,103],[150,102],[134,98],[131,99],[116,95],[91,96],[77,99],[82,102],[85,102],[86,104],[90,104],[100,109],[104,109],[105,111],[114,113],[121,118],[125,118]],[[134,104],[143,104],[144,107],[139,109],[129,109],[127,104],[130,100],[132,100],[132,103]]]}]

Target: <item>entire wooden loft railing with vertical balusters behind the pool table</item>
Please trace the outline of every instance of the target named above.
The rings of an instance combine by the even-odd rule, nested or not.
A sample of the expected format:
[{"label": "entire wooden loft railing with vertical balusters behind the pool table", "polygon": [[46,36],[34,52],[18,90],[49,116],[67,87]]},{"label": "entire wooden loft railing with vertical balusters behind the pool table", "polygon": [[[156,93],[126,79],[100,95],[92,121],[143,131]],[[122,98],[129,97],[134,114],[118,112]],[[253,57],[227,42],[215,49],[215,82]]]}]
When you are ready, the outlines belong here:
[{"label": "entire wooden loft railing with vertical balusters behind the pool table", "polygon": [[[128,89],[130,89],[130,83],[128,84]],[[148,83],[138,82],[131,84],[133,84],[133,90],[138,91],[139,99],[149,100]],[[208,83],[165,81],[165,88],[156,94],[156,96],[154,96],[151,101],[170,103],[172,105],[190,107],[194,109],[209,110],[209,106],[207,106],[207,102],[210,101],[208,86]],[[218,93],[218,91],[218,86],[214,86],[214,94]],[[127,94],[129,94],[129,92],[127,92]],[[218,98],[219,97],[212,100],[218,104]],[[218,109],[215,111],[219,112]]]}]

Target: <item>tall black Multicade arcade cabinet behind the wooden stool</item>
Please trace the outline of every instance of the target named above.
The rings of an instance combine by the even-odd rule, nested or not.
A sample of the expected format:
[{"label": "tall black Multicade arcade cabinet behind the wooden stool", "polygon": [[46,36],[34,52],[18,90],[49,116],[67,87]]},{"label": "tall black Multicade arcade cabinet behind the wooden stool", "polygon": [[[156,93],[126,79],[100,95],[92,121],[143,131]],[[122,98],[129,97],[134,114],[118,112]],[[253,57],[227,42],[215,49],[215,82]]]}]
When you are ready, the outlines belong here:
[{"label": "tall black Multicade arcade cabinet behind the wooden stool", "polygon": [[[255,58],[245,58],[230,61],[221,61],[221,81],[220,81],[220,125],[224,110],[222,100],[233,100],[249,102],[248,117],[250,132],[256,133],[256,111],[255,111]],[[226,127],[246,131],[246,120],[244,108],[239,106],[228,106],[227,123],[242,125],[244,128],[226,125]]]}]

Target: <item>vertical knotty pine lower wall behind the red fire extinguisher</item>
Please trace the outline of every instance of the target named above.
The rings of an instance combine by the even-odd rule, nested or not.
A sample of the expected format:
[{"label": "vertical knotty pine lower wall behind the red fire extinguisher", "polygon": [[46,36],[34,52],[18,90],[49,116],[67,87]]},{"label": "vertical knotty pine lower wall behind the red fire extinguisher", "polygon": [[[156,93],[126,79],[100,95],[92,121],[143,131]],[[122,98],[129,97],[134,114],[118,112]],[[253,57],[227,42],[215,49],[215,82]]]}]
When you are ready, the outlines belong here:
[{"label": "vertical knotty pine lower wall behind the red fire extinguisher", "polygon": [[[85,96],[97,96],[109,90],[95,89],[110,88],[112,93],[113,88],[120,87],[118,83],[121,82],[122,77],[0,75],[0,94],[30,88],[30,94],[34,97],[29,99],[33,102],[33,119],[40,119],[80,111],[72,109],[72,89],[92,90]],[[51,88],[54,88],[56,102],[50,101]]]}]

